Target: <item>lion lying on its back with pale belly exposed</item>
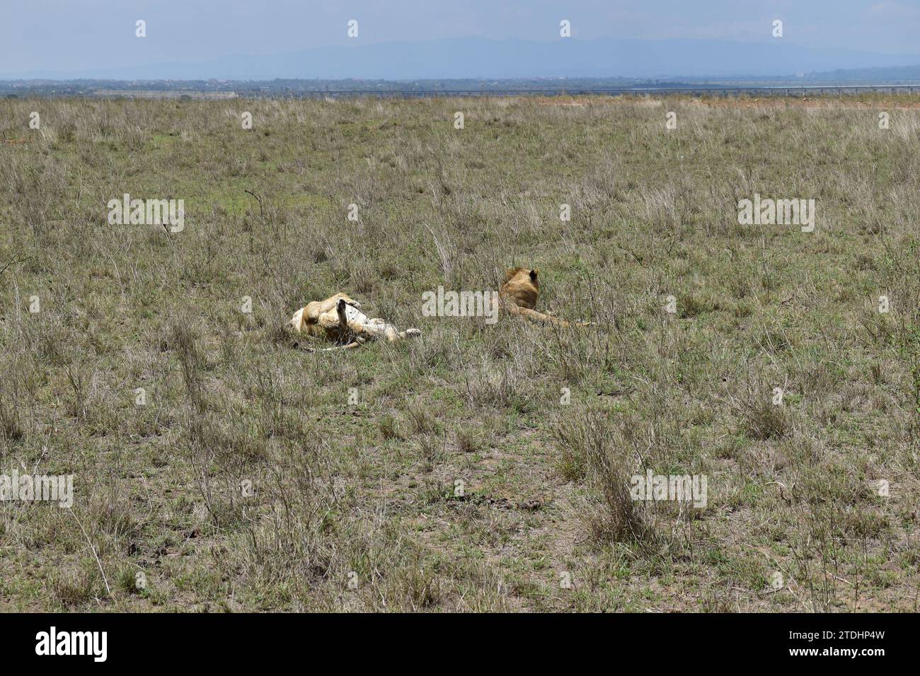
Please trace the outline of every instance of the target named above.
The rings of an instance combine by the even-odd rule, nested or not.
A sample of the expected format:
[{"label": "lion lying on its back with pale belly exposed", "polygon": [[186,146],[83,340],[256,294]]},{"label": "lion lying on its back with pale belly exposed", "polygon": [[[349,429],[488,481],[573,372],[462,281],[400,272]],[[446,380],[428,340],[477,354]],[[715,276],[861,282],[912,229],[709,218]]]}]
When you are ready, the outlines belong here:
[{"label": "lion lying on its back with pale belly exposed", "polygon": [[[360,348],[369,340],[384,339],[394,342],[401,338],[417,338],[421,335],[418,328],[400,331],[384,319],[374,319],[364,315],[359,309],[361,304],[349,298],[346,293],[336,293],[325,301],[313,301],[293,314],[287,326],[294,333],[304,333],[316,338],[327,338],[336,344],[330,349]],[[316,349],[306,348],[308,352]]]}]

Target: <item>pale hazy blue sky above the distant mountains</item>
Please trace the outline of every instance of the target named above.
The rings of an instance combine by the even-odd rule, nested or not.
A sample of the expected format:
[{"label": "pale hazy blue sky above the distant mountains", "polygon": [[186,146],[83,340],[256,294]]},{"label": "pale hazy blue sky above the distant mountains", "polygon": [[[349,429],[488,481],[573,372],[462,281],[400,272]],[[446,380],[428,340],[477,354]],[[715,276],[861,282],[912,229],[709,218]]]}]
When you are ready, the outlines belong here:
[{"label": "pale hazy blue sky above the distant mountains", "polygon": [[[134,37],[134,21],[147,38]],[[920,0],[0,0],[0,73],[202,62],[393,40],[573,37],[786,40],[920,53]]]}]

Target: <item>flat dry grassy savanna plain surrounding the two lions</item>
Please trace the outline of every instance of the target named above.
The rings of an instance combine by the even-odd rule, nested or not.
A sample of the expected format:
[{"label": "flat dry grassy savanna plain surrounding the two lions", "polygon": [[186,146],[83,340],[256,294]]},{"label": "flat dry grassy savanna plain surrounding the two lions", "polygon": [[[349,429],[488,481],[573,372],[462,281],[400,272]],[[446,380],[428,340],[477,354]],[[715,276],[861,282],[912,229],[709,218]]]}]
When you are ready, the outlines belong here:
[{"label": "flat dry grassy savanna plain surrounding the two lions", "polygon": [[[0,609],[916,611],[918,100],[0,100]],[[596,326],[422,316],[512,266]]]}]

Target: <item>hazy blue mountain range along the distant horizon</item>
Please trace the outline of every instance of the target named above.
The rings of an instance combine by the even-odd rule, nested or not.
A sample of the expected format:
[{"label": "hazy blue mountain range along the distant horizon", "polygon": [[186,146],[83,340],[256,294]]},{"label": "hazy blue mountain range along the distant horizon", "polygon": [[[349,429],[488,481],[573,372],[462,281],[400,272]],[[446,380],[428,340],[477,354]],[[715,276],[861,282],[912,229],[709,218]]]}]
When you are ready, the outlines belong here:
[{"label": "hazy blue mountain range along the distant horizon", "polygon": [[[207,63],[157,63],[82,71],[0,72],[0,79],[270,80],[529,77],[763,78],[920,64],[920,55],[815,49],[775,39],[575,40],[464,38],[316,47]],[[0,66],[3,68],[4,66]]]}]

